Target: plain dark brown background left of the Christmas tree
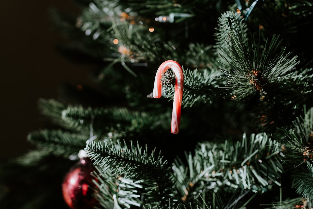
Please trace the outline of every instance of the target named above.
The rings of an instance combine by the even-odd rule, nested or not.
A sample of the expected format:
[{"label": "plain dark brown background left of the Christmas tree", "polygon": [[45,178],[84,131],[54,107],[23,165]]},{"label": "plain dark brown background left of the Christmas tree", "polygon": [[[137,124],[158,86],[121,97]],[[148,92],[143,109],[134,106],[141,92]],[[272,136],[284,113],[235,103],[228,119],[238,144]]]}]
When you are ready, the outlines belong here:
[{"label": "plain dark brown background left of the Christmas tree", "polygon": [[79,12],[70,0],[13,0],[0,6],[0,160],[32,148],[27,134],[44,127],[39,98],[56,98],[65,82],[83,87],[90,82],[90,66],[67,60],[56,50],[62,37],[50,21],[50,7]]}]

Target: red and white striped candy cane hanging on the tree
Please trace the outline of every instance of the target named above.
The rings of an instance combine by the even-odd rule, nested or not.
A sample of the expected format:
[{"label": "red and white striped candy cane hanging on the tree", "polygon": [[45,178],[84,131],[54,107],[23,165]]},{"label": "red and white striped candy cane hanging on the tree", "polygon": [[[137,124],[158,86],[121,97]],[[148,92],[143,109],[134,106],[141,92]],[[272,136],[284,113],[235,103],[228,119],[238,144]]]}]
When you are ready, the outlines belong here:
[{"label": "red and white striped candy cane hanging on the tree", "polygon": [[176,61],[167,60],[163,62],[162,65],[160,65],[160,67],[158,68],[154,80],[153,97],[154,98],[161,97],[162,94],[161,77],[168,69],[172,69],[176,76],[171,132],[178,133],[182,109],[182,87],[184,85],[184,74],[182,71],[182,66],[180,66]]}]

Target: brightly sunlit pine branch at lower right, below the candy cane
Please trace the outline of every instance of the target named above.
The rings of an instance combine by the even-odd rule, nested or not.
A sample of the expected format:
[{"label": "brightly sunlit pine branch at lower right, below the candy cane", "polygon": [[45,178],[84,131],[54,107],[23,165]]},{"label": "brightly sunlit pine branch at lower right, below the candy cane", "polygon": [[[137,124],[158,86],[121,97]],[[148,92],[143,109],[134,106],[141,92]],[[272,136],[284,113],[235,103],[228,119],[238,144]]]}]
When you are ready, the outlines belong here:
[{"label": "brightly sunlit pine branch at lower right, below the candy cane", "polygon": [[209,193],[213,190],[232,194],[237,188],[264,192],[270,182],[280,185],[279,153],[278,142],[265,133],[252,134],[250,139],[244,134],[242,141],[235,144],[201,143],[193,156],[186,156],[187,167],[181,161],[173,166],[178,191],[187,201],[197,196],[203,185]]}]

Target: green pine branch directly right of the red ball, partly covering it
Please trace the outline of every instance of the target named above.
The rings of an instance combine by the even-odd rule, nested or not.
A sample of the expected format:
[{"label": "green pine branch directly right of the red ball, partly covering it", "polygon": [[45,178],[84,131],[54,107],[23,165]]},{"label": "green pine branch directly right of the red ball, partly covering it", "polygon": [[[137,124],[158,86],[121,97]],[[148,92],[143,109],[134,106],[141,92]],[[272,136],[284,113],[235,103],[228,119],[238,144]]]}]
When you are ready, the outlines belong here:
[{"label": "green pine branch directly right of the red ball, partly covering it", "polygon": [[[120,186],[118,192],[119,194],[124,192],[124,204],[127,203],[125,198],[129,192],[136,198],[138,195],[144,198],[144,205],[167,205],[173,193],[175,194],[170,167],[160,154],[155,154],[155,150],[148,155],[147,147],[142,150],[139,144],[134,146],[131,142],[130,148],[128,148],[125,141],[122,146],[118,140],[116,143],[111,141],[111,147],[106,142],[104,146],[101,143],[89,143],[85,152],[94,160],[94,165],[102,169],[102,172],[115,175],[118,184],[125,185]],[[129,190],[129,186],[131,188],[135,186],[136,190]],[[162,197],[160,197],[160,192]],[[147,199],[145,195],[147,195]],[[120,200],[119,204],[122,202]]]}]

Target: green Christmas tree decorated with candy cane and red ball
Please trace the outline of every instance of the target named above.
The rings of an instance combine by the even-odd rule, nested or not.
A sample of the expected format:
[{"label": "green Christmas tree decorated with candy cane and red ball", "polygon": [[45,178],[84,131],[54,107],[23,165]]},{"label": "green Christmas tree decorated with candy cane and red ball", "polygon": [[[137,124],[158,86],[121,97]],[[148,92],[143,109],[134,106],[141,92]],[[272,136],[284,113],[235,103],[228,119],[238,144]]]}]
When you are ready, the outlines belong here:
[{"label": "green Christmas tree decorated with candy cane and red ball", "polygon": [[95,85],[38,99],[1,209],[313,207],[312,2],[73,4],[59,50]]}]

